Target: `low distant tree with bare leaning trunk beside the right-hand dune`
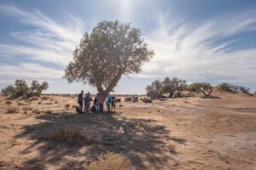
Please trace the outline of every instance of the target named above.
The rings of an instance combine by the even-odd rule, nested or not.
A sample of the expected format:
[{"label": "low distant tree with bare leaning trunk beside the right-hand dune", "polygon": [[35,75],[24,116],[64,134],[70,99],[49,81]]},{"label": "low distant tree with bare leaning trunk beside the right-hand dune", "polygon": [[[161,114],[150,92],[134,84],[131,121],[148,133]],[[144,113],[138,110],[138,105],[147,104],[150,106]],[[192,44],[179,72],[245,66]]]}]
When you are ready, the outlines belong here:
[{"label": "low distant tree with bare leaning trunk beside the right-hand dune", "polygon": [[207,97],[212,94],[212,86],[208,82],[194,82],[190,84],[189,90],[196,93],[203,93]]}]

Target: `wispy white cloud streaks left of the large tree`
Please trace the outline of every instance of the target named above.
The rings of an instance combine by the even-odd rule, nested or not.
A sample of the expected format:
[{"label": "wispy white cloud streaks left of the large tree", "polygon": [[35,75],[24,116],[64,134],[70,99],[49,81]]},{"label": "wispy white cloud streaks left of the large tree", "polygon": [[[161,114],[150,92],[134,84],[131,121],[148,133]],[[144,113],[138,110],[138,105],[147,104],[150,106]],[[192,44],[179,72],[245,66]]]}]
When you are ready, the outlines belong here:
[{"label": "wispy white cloud streaks left of the large tree", "polygon": [[0,13],[15,17],[22,25],[34,27],[29,31],[10,32],[12,37],[28,45],[0,44],[3,56],[21,55],[64,66],[72,59],[73,49],[84,34],[84,22],[70,14],[65,14],[65,20],[59,23],[37,10],[28,12],[15,6],[3,5]]}]

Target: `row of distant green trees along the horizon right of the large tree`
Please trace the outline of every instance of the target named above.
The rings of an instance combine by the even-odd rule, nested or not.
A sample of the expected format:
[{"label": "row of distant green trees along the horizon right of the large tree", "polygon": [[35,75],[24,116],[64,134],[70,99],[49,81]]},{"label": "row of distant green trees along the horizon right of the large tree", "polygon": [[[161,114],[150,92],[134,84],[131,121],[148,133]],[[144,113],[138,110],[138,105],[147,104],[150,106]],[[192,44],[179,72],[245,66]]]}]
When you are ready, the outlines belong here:
[{"label": "row of distant green trees along the horizon right of the large tree", "polygon": [[[243,86],[237,86],[228,82],[223,82],[218,85],[218,89],[223,92],[229,93],[250,93],[250,88]],[[155,80],[146,88],[147,96],[151,99],[160,99],[163,94],[169,94],[169,98],[172,98],[175,92],[177,97],[182,97],[182,91],[195,92],[197,94],[202,93],[205,97],[211,97],[213,87],[209,82],[193,82],[188,84],[187,81],[178,77],[166,77],[163,81]]]}]

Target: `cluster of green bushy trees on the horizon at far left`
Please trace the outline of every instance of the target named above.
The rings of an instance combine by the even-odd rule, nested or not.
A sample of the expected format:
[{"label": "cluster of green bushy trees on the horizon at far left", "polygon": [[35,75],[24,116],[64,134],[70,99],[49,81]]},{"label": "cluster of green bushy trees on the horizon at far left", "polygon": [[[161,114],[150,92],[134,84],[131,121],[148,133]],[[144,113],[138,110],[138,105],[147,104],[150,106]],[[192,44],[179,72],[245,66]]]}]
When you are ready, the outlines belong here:
[{"label": "cluster of green bushy trees on the horizon at far left", "polygon": [[40,97],[42,94],[42,91],[46,90],[47,88],[49,88],[48,82],[42,82],[40,84],[37,80],[33,80],[31,83],[31,86],[28,87],[25,80],[17,79],[17,80],[15,80],[14,86],[9,85],[8,87],[3,88],[1,90],[1,93],[5,94],[5,95],[12,94],[13,97],[20,97],[20,96]]}]

